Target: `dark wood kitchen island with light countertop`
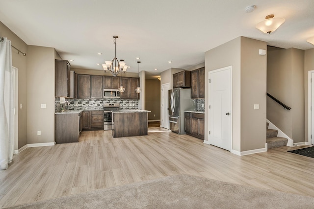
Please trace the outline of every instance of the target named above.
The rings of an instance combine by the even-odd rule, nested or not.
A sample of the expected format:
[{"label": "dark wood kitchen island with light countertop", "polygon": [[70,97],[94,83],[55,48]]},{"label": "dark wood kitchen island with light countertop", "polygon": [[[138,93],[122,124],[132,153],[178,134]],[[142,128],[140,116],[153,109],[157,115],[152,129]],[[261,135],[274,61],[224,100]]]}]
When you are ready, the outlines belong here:
[{"label": "dark wood kitchen island with light countertop", "polygon": [[148,135],[147,110],[118,110],[112,112],[112,137]]}]

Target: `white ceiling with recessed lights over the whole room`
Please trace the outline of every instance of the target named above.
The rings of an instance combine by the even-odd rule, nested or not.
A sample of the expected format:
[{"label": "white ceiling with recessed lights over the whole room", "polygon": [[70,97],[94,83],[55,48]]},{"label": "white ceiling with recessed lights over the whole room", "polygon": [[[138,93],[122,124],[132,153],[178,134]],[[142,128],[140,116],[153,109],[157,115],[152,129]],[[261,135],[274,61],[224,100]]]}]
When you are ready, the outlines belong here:
[{"label": "white ceiling with recessed lights over the whole room", "polygon": [[[269,14],[286,19],[270,35],[255,28]],[[153,75],[202,63],[206,51],[239,36],[314,47],[306,42],[314,36],[314,0],[1,0],[0,21],[27,45],[54,47],[73,68],[102,70],[96,64],[113,59],[117,35],[117,58],[128,71],[138,71],[140,57],[139,70]]]}]

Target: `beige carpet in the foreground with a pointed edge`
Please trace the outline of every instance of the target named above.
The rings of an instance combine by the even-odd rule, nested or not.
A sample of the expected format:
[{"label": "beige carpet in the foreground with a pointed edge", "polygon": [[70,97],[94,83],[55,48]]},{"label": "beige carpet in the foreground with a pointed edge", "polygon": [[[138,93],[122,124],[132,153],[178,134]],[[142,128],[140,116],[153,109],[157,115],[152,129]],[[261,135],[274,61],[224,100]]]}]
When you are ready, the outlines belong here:
[{"label": "beige carpet in the foreground with a pointed edge", "polygon": [[314,197],[180,174],[13,208],[310,209],[314,208]]}]

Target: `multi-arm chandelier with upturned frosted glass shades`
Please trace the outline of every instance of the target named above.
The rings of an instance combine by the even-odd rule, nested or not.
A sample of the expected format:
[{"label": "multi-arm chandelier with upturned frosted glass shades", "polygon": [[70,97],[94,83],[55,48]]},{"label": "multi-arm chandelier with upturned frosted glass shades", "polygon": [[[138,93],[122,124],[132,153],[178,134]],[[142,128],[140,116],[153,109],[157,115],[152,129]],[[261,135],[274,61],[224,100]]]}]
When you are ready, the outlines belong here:
[{"label": "multi-arm chandelier with upturned frosted glass shades", "polygon": [[112,61],[105,61],[105,64],[103,64],[104,72],[107,70],[112,73],[114,77],[116,77],[120,73],[126,73],[128,66],[126,65],[124,60],[120,60],[122,62],[119,62],[117,59],[117,45],[116,45],[116,39],[118,36],[112,36],[114,38],[113,44],[114,44],[114,58]]}]

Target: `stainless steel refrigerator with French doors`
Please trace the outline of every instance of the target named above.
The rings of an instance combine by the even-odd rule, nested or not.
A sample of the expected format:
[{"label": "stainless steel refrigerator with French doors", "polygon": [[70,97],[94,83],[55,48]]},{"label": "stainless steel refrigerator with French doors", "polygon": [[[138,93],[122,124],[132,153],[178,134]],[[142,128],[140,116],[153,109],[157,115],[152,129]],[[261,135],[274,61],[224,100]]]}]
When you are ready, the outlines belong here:
[{"label": "stainless steel refrigerator with French doors", "polygon": [[195,109],[191,99],[191,89],[169,90],[169,129],[178,134],[185,134],[184,131],[184,110]]}]

